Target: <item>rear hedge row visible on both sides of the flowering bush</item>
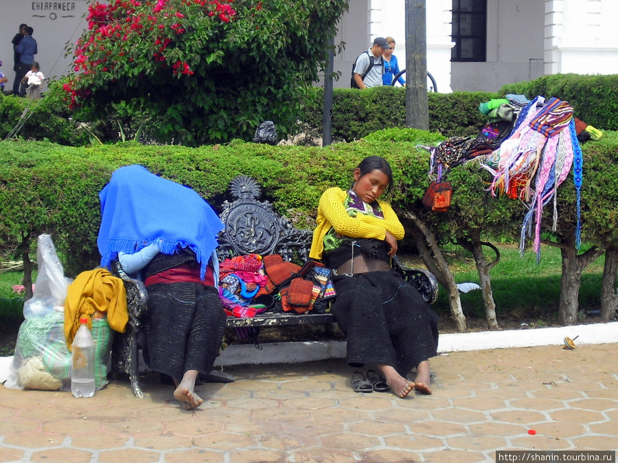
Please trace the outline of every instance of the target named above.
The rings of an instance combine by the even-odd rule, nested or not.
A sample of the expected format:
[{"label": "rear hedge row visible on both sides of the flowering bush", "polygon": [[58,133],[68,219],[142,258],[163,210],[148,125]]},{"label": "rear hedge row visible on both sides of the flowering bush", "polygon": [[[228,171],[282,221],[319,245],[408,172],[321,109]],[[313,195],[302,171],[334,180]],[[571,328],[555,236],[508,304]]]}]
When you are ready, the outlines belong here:
[{"label": "rear hedge row visible on both sides of the flowering bush", "polygon": [[[56,82],[59,87],[62,81]],[[138,133],[149,137],[150,128],[158,122],[148,114],[133,113],[119,104],[114,117],[91,121],[88,130],[73,122],[62,109],[62,92],[47,92],[38,103],[23,98],[0,95],[0,137],[3,139],[19,122],[28,107],[32,115],[19,133],[29,140],[44,140],[69,146],[84,146],[91,137],[89,131],[102,141],[117,142],[124,137],[133,139]],[[602,131],[618,130],[618,76],[580,76],[557,74],[506,85],[499,93],[454,92],[429,93],[429,129],[445,137],[475,135],[485,123],[479,103],[499,98],[506,93],[520,93],[534,98],[556,96],[573,105],[575,115]],[[402,87],[376,87],[367,90],[334,89],[332,136],[335,141],[351,142],[385,128],[404,128],[406,91]],[[310,87],[304,102],[304,117],[298,130],[321,137],[323,117],[323,89]],[[275,121],[276,122],[276,121]]]}]

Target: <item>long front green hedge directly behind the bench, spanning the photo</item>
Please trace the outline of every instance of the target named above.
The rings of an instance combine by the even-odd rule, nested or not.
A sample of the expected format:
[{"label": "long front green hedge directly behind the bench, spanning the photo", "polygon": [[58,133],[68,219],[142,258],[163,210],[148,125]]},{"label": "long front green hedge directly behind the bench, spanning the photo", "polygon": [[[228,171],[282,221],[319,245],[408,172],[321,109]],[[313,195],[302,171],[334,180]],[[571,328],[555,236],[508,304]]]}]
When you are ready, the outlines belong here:
[{"label": "long front green hedge directly behind the bench, spanning the photo", "polygon": [[[190,186],[211,205],[227,199],[229,182],[247,174],[262,185],[263,198],[275,201],[278,212],[299,227],[311,228],[321,193],[332,185],[347,188],[354,167],[369,155],[388,159],[395,172],[393,205],[412,210],[427,223],[459,229],[473,223],[486,234],[511,235],[517,240],[523,205],[485,192],[486,176],[477,166],[462,166],[449,174],[453,208],[432,214],[420,199],[428,184],[428,152],[416,145],[435,145],[442,135],[415,129],[388,129],[361,142],[325,148],[268,146],[245,142],[183,148],[142,146],[133,142],[69,148],[49,142],[0,142],[0,251],[16,249],[22,236],[36,242],[41,233],[52,234],[65,256],[67,273],[76,275],[98,262],[96,236],[100,223],[98,193],[120,166],[139,163],[156,174]],[[584,145],[582,225],[588,242],[615,240],[618,203],[615,172],[618,169],[618,133],[608,132],[599,142]],[[510,201],[504,209],[504,201]],[[575,193],[572,179],[560,188],[560,220],[572,227]],[[505,214],[519,208],[512,226]],[[549,220],[551,213],[545,214]],[[504,212],[501,212],[504,211]],[[511,212],[509,212],[511,214]],[[439,219],[439,220],[438,220]],[[448,236],[448,232],[447,232]]]}]

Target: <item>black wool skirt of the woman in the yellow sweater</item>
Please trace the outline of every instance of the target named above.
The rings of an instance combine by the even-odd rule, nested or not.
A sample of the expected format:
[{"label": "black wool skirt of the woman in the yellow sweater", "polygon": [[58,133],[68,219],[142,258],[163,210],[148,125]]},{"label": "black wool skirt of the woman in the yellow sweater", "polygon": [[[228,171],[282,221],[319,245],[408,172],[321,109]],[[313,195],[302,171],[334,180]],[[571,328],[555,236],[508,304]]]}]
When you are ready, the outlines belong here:
[{"label": "black wool skirt of the woman in the yellow sweater", "polygon": [[391,365],[405,376],[437,355],[439,317],[396,271],[337,276],[334,287],[331,310],[350,365]]}]

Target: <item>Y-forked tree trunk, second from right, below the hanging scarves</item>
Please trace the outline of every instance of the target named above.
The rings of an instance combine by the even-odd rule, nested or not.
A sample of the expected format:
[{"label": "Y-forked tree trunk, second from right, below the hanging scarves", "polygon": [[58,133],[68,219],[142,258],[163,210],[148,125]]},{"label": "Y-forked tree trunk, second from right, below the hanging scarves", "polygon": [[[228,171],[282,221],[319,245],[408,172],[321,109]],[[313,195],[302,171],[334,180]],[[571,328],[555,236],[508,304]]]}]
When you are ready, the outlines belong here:
[{"label": "Y-forked tree trunk, second from right, below the hanging scarves", "polygon": [[[544,240],[544,242],[546,242]],[[547,244],[556,246],[556,243]],[[560,308],[558,317],[563,326],[577,323],[577,308],[579,307],[580,283],[582,272],[590,262],[602,255],[603,249],[595,246],[577,256],[575,236],[567,236],[560,247],[562,254],[562,277],[560,278]]]}]

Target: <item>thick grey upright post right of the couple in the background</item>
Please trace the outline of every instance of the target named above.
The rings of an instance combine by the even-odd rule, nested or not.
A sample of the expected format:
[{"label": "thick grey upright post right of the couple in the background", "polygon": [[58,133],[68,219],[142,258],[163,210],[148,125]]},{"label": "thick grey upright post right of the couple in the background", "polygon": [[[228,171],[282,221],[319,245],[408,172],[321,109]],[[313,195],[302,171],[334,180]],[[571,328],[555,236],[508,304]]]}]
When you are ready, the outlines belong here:
[{"label": "thick grey upright post right of the couple in the background", "polygon": [[429,129],[426,0],[406,0],[406,126]]}]

